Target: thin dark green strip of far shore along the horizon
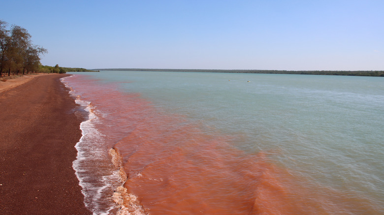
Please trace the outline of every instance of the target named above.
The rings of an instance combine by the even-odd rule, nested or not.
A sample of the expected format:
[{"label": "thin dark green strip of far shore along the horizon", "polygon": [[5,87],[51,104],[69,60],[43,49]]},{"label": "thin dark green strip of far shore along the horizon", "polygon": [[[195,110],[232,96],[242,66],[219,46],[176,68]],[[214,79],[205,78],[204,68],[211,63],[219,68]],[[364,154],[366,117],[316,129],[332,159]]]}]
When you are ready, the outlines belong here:
[{"label": "thin dark green strip of far shore along the horizon", "polygon": [[384,71],[287,71],[287,70],[223,70],[223,69],[92,69],[94,71],[142,71],[142,72],[211,72],[211,73],[254,73],[292,75],[331,75],[331,76],[372,76],[384,77]]}]

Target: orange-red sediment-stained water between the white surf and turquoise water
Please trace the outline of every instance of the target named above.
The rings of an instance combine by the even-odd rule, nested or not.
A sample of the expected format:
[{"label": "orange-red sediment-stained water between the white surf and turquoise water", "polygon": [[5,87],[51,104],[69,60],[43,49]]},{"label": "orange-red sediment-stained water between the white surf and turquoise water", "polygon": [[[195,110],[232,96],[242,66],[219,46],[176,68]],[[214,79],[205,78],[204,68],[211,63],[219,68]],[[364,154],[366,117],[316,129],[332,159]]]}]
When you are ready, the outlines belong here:
[{"label": "orange-red sediment-stained water between the white surf and turquoise water", "polygon": [[[89,90],[97,95],[89,98],[93,107],[104,111],[93,125],[100,134],[114,136],[115,144],[106,145],[113,144],[121,156],[114,159],[119,177],[124,181],[127,175],[113,197],[124,209],[132,201],[151,214],[272,213],[282,207],[278,202],[286,191],[262,153],[235,149],[230,136],[206,134],[200,125],[163,113],[137,94]],[[267,198],[270,205],[260,206]]]}]

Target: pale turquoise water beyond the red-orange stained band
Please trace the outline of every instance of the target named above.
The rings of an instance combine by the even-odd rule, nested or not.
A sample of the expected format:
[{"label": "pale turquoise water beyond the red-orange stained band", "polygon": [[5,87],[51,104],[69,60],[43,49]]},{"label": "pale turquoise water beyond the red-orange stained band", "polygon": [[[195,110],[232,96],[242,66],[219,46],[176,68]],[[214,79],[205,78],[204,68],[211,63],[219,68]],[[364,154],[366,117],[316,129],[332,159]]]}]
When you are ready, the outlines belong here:
[{"label": "pale turquoise water beyond the red-orange stained band", "polygon": [[298,202],[322,201],[321,207],[332,208],[304,212],[384,214],[381,77],[71,74],[98,80],[100,87],[117,84],[119,91],[138,94],[165,115],[182,116],[204,134],[230,136],[230,144],[246,154],[265,153],[287,172],[283,180],[290,181]]}]

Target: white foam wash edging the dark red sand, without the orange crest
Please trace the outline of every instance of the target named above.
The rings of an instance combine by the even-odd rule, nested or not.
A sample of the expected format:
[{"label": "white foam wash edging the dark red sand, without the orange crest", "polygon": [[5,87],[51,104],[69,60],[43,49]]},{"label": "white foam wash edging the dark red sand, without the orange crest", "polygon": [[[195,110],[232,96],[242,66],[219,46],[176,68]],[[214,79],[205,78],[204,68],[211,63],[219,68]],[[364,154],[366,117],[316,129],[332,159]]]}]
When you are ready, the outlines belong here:
[{"label": "white foam wash edging the dark red sand, without the orange crest", "polygon": [[[94,215],[111,214],[117,206],[112,201],[111,194],[108,195],[108,193],[113,193],[110,190],[114,189],[116,177],[113,170],[108,171],[105,165],[98,165],[108,161],[109,158],[105,156],[106,153],[101,147],[103,134],[97,131],[93,123],[97,120],[94,107],[90,102],[81,100],[81,97],[65,82],[65,78],[61,81],[70,90],[69,94],[75,98],[76,104],[88,112],[88,120],[80,124],[82,137],[75,145],[77,157],[72,164],[79,185],[82,187],[84,203]],[[101,171],[100,168],[102,168]]]}]

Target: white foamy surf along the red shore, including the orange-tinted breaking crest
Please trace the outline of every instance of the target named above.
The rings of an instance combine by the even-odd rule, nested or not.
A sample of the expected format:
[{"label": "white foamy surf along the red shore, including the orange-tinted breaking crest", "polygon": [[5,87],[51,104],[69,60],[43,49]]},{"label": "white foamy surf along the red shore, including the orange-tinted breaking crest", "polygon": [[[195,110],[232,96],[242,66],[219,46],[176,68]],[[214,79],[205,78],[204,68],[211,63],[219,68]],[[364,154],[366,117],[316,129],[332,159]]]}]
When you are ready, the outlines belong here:
[{"label": "white foamy surf along the red shore, including the orange-tinted breaking crest", "polygon": [[83,101],[65,79],[61,81],[70,90],[70,96],[75,99],[76,104],[88,112],[88,119],[80,124],[82,136],[75,145],[77,157],[72,164],[82,187],[85,206],[94,215],[145,214],[137,196],[128,193],[127,189],[121,186],[127,180],[121,158],[117,153],[111,153],[112,151],[108,153],[103,144],[105,135],[95,126],[100,123],[98,116],[103,114],[98,112],[91,102]]}]

